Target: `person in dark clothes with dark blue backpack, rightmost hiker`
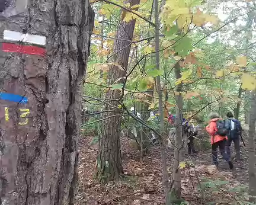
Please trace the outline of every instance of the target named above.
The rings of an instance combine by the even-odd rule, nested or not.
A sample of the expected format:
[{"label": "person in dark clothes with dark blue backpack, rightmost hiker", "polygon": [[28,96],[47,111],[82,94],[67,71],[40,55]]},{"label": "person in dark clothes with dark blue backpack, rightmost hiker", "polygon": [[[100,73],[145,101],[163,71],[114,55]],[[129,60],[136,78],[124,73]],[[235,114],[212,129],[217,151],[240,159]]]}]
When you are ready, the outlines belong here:
[{"label": "person in dark clothes with dark blue backpack, rightmost hiker", "polygon": [[226,114],[228,117],[228,126],[229,126],[229,133],[228,133],[228,140],[226,142],[226,152],[229,158],[231,157],[231,149],[230,146],[232,142],[234,143],[235,150],[236,150],[236,160],[241,160],[240,154],[240,135],[242,133],[242,126],[239,120],[233,118],[233,114],[228,112]]}]

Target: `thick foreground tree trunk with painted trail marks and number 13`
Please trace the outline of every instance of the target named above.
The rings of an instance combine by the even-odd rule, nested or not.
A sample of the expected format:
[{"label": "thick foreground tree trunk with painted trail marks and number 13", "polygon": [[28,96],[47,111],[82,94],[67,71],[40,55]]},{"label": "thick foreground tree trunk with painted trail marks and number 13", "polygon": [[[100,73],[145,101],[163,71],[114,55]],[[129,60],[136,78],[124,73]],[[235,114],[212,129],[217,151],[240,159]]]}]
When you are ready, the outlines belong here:
[{"label": "thick foreground tree trunk with painted trail marks and number 13", "polygon": [[[0,96],[0,204],[73,204],[94,12],[88,0],[31,0],[27,8],[0,19],[1,37],[20,32],[1,40],[1,92],[23,100]],[[46,53],[24,46],[40,42],[22,33],[46,37]]]}]

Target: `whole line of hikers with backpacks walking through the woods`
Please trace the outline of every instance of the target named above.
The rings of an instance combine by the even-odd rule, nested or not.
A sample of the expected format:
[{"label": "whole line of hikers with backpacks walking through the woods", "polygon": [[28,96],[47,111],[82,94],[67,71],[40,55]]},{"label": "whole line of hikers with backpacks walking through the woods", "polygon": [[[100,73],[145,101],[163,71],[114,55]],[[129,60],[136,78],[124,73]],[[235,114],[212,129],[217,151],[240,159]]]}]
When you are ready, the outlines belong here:
[{"label": "whole line of hikers with backpacks walking through the woods", "polygon": [[[135,114],[138,118],[141,118],[140,113],[136,112],[132,107],[131,110],[133,114]],[[239,120],[236,120],[231,112],[226,114],[226,120],[223,120],[217,113],[209,114],[209,124],[206,126],[206,131],[210,134],[210,143],[212,146],[212,162],[214,165],[218,166],[217,159],[217,148],[219,148],[220,155],[225,159],[229,164],[229,168],[233,169],[233,163],[231,161],[231,145],[234,143],[234,147],[236,150],[236,160],[241,160],[240,153],[240,137],[242,139],[242,127]],[[169,113],[168,122],[171,125],[171,130],[169,132],[169,146],[174,145],[175,138],[175,118],[176,116]],[[194,147],[194,139],[196,138],[199,130],[199,126],[194,123],[193,119],[186,120],[182,118],[182,126],[183,126],[183,136],[187,135],[187,148],[188,154],[196,153],[196,149]],[[158,112],[151,111],[150,117],[148,121],[151,121],[153,124],[159,123]],[[137,136],[136,129],[132,130],[132,133]],[[153,132],[151,132],[151,142],[155,145],[158,143],[158,137],[155,136]]]}]

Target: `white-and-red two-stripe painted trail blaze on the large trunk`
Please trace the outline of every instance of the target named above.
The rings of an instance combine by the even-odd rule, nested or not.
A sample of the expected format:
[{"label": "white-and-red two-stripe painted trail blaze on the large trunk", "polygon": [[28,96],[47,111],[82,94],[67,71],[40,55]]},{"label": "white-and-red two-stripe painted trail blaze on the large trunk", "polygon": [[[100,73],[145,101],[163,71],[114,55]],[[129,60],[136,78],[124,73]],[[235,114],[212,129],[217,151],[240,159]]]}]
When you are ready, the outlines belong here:
[{"label": "white-and-red two-stripe painted trail blaze on the large trunk", "polygon": [[[4,31],[2,43],[3,52],[24,53],[29,55],[44,56],[46,53],[46,37],[32,34],[24,34],[17,31]],[[20,42],[26,44],[19,44]]]}]

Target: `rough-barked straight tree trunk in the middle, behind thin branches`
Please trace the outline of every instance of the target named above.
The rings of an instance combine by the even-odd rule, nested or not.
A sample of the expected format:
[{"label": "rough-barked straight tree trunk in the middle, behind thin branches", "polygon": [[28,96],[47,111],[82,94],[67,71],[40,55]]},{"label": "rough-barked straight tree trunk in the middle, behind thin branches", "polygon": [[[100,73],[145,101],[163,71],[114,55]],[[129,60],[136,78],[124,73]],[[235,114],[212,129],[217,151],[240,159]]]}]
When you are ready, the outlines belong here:
[{"label": "rough-barked straight tree trunk in the middle, behind thin branches", "polygon": [[[130,7],[136,4],[139,4],[139,0],[130,1]],[[135,20],[123,21],[126,12],[125,10],[122,11],[121,23],[117,29],[116,38],[132,41]],[[128,66],[130,47],[131,43],[129,41],[114,40],[113,66],[108,71],[109,85],[123,83]],[[106,93],[106,99],[111,100],[105,101],[104,110],[112,110],[113,112],[103,114],[103,118],[107,119],[103,121],[98,143],[97,172],[95,174],[95,178],[103,182],[119,180],[120,176],[123,175],[120,150],[121,111],[117,107],[119,105],[118,102],[114,101],[118,100],[120,96],[118,89],[110,90]]]}]

